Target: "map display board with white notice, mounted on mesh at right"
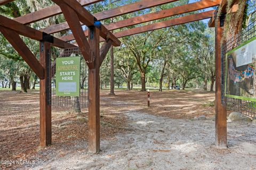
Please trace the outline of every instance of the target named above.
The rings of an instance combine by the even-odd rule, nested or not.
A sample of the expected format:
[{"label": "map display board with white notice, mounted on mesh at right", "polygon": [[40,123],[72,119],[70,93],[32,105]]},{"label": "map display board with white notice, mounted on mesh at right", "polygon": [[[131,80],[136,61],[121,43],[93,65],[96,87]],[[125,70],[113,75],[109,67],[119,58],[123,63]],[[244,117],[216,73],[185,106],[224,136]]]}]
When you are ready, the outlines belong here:
[{"label": "map display board with white notice, mounted on mesh at right", "polygon": [[256,101],[256,37],[226,54],[225,96]]}]

